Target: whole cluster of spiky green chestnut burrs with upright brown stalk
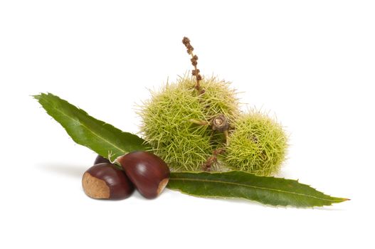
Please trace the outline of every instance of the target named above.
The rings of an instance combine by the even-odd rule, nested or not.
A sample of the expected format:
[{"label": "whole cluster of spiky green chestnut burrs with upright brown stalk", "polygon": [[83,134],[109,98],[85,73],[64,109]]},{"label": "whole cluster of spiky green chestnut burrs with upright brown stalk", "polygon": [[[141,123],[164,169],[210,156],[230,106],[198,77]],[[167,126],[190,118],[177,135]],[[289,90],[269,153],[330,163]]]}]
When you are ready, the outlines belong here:
[{"label": "whole cluster of spiky green chestnut burrs with upright brown stalk", "polygon": [[173,171],[240,169],[275,174],[285,159],[287,137],[278,122],[256,110],[241,112],[236,90],[203,78],[189,38],[192,76],[167,83],[142,105],[141,132]]}]

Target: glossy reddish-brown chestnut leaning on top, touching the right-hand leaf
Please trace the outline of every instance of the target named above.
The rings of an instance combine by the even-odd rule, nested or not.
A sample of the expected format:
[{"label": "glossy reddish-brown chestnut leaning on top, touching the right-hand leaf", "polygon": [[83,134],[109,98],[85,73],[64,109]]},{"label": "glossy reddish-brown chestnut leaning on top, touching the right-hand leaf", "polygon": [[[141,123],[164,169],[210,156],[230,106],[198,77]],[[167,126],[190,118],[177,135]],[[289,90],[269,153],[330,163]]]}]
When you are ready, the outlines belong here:
[{"label": "glossy reddish-brown chestnut leaning on top, touching the right-hand leaf", "polygon": [[149,152],[130,152],[116,159],[130,181],[146,198],[155,198],[162,193],[169,181],[169,167]]}]

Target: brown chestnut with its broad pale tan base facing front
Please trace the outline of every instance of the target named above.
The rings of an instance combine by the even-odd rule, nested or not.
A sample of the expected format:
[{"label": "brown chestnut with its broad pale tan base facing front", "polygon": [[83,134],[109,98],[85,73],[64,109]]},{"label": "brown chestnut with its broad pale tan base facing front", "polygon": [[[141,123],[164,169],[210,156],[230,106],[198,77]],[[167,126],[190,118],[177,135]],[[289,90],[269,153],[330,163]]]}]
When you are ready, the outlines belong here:
[{"label": "brown chestnut with its broad pale tan base facing front", "polygon": [[82,177],[85,194],[91,198],[121,200],[129,197],[134,186],[124,171],[113,164],[95,164]]}]

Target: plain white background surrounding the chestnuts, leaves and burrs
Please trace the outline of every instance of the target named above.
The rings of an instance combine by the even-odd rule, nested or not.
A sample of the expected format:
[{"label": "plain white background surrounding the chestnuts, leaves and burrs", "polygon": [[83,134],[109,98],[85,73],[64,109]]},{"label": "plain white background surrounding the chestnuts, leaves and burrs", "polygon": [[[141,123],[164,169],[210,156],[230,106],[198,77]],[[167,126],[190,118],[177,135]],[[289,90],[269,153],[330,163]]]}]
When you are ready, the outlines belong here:
[{"label": "plain white background surrounding the chestnuts, leaves and burrs", "polygon": [[[374,248],[374,32],[374,1],[0,1],[0,248]],[[352,201],[85,196],[95,154],[30,95],[137,132],[147,88],[191,70],[183,36],[286,127],[279,176]]]}]

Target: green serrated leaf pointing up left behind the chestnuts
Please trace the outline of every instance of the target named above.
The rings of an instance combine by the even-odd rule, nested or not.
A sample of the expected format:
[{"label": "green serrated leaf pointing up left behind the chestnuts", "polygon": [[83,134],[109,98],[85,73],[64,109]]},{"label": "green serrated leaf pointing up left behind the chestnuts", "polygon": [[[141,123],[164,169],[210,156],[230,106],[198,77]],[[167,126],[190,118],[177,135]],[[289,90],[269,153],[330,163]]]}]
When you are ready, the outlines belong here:
[{"label": "green serrated leaf pointing up left behind the chestnuts", "polygon": [[96,120],[56,95],[41,93],[33,97],[76,143],[92,149],[102,157],[113,161],[127,152],[150,149],[137,135],[122,132],[111,124]]}]

